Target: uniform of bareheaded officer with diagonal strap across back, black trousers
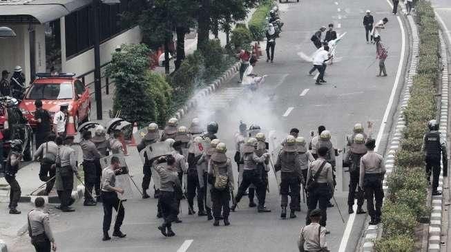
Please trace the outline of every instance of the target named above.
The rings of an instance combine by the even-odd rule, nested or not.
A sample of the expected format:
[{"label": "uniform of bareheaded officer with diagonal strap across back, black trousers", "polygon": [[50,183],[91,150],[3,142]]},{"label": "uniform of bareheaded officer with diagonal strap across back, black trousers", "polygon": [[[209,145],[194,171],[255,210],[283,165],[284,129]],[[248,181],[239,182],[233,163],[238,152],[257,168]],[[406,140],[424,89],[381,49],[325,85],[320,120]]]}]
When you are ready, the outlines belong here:
[{"label": "uniform of bareheaded officer with diagonal strap across back, black trousers", "polygon": [[329,162],[327,162],[327,160],[325,160],[323,157],[318,157],[317,160],[311,162],[309,170],[307,171],[307,183],[310,178],[316,174],[323,162],[325,162],[325,165],[320,174],[318,174],[318,178],[316,179],[316,182],[318,182],[318,187],[309,191],[309,200],[307,201],[309,210],[307,211],[306,223],[310,224],[309,214],[311,211],[316,209],[316,205],[318,204],[318,207],[321,211],[320,224],[321,226],[326,227],[327,204],[329,202],[329,199],[332,198],[332,193],[334,193],[332,165],[329,164]]}]

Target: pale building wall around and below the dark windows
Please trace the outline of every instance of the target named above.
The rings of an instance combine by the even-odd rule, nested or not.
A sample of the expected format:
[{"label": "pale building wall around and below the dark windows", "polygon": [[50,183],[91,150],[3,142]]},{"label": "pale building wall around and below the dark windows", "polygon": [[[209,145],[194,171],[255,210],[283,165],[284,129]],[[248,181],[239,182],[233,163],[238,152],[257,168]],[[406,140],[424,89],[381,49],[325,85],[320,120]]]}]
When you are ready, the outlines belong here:
[{"label": "pale building wall around and below the dark windows", "polygon": [[[94,69],[94,49],[88,50],[71,59],[66,59],[66,28],[64,18],[61,18],[61,65],[62,72],[75,72],[77,76]],[[100,64],[103,65],[111,61],[111,54],[117,45],[123,43],[140,43],[142,34],[139,27],[123,32],[100,45]],[[93,74],[86,77],[86,83],[93,81]]]}]

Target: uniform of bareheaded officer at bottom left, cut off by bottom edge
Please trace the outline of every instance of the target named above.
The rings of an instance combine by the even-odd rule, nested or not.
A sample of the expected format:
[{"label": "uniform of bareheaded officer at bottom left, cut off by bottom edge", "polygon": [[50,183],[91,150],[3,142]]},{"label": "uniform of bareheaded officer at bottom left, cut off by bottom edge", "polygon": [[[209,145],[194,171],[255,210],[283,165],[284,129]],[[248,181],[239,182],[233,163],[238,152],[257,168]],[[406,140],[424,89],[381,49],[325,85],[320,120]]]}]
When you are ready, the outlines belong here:
[{"label": "uniform of bareheaded officer at bottom left, cut off by bottom edge", "polygon": [[48,213],[44,209],[36,208],[28,213],[28,235],[37,252],[50,252],[55,238],[50,228]]}]

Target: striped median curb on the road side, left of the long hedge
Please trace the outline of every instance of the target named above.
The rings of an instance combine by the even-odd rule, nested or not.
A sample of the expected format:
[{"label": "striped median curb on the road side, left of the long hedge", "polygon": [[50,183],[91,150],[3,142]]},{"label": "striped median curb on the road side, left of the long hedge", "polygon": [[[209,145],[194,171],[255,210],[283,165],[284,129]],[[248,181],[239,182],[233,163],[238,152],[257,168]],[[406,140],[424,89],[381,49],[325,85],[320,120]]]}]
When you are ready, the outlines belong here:
[{"label": "striped median curb on the road side, left of the long hedge", "polygon": [[[410,67],[407,73],[407,85],[401,91],[401,99],[399,103],[399,108],[397,109],[398,118],[394,118],[394,134],[391,136],[390,140],[387,142],[387,149],[385,155],[385,168],[387,172],[385,173],[383,179],[383,190],[385,195],[388,195],[387,177],[390,176],[394,169],[394,155],[396,151],[399,150],[401,146],[401,139],[403,138],[403,130],[405,128],[405,119],[403,111],[407,107],[407,103],[410,98],[410,87],[413,84],[413,78],[416,75],[416,67],[419,62],[419,34],[416,27],[416,23],[412,15],[407,15],[407,22],[410,26],[410,34],[412,36],[412,47],[410,50]],[[385,198],[384,198],[385,201]],[[382,225],[368,225],[365,230],[365,236],[363,237],[363,242],[361,251],[371,252],[374,251],[374,241],[380,237],[382,233]]]}]

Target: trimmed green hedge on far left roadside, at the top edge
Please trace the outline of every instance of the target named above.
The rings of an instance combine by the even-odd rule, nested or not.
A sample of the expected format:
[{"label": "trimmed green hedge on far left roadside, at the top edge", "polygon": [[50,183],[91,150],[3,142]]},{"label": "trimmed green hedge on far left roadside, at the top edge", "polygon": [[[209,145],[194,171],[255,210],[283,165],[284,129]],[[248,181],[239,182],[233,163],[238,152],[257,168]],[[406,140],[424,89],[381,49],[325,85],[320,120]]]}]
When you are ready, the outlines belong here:
[{"label": "trimmed green hedge on far left roadside, at the top edge", "polygon": [[253,41],[265,39],[268,26],[267,17],[269,16],[269,10],[271,10],[273,6],[274,1],[261,1],[256,11],[253,12],[251,20],[249,20],[249,31],[251,32]]}]

